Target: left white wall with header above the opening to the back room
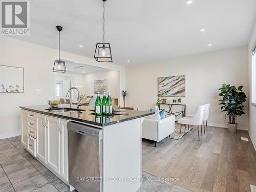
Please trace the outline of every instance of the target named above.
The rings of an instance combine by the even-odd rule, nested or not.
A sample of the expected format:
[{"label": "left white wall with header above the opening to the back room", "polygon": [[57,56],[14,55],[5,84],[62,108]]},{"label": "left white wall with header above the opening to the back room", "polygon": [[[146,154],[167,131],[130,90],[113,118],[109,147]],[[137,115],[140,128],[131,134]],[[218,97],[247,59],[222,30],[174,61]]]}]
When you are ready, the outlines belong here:
[{"label": "left white wall with header above the opening to the back room", "polygon": [[[0,94],[0,138],[20,135],[19,106],[47,104],[54,99],[53,63],[57,58],[57,50],[16,40],[0,37],[0,63],[25,68],[25,92]],[[87,65],[119,70],[120,89],[124,89],[124,68],[113,63],[98,63],[95,59],[62,52],[62,59],[72,60]],[[12,74],[10,74],[11,76]],[[36,89],[41,89],[37,93]],[[119,94],[121,97],[121,93]]]}]

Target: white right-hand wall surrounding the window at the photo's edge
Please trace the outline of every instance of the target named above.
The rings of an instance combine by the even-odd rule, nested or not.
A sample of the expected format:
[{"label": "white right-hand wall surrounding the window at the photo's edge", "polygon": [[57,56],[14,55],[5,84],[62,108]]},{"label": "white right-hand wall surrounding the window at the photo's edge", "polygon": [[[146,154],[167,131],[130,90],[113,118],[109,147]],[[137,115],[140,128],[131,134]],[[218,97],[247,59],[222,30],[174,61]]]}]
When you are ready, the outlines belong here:
[{"label": "white right-hand wall surrounding the window at the photo's edge", "polygon": [[[248,58],[248,61],[249,61],[249,68],[248,68],[248,77],[249,77],[249,86],[251,88],[251,48],[254,44],[256,40],[256,23],[255,23],[255,26],[254,26],[254,30],[252,32],[252,35],[251,35],[251,38],[250,38],[250,41],[249,41],[249,44],[248,44],[248,54],[249,54],[249,58]],[[250,134],[250,137],[251,137],[251,140],[254,144],[254,148],[256,150],[256,106],[255,105],[252,105],[251,104],[251,101],[252,101],[252,98],[251,98],[251,89],[250,89],[250,104],[249,104],[249,112],[250,112],[250,116],[249,116],[249,134]]]}]

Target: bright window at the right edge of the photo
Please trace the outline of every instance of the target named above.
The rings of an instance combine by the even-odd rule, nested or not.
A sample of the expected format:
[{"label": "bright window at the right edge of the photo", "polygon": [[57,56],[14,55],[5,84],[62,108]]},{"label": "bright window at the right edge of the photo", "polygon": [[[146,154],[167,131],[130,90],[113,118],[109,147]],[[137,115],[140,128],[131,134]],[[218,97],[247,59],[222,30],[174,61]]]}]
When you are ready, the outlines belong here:
[{"label": "bright window at the right edge of the photo", "polygon": [[251,49],[251,101],[256,106],[256,41]]}]

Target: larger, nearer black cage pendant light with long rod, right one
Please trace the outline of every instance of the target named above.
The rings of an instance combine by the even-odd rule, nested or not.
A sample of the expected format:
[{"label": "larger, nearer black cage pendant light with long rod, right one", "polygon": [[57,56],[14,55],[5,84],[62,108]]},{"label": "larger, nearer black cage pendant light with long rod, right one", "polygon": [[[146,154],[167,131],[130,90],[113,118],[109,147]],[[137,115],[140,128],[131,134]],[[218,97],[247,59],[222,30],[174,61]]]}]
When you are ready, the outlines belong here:
[{"label": "larger, nearer black cage pendant light with long rod, right one", "polygon": [[103,42],[97,42],[94,58],[97,62],[113,62],[112,53],[110,48],[110,43],[105,42],[105,2],[106,0],[101,0],[103,2]]}]

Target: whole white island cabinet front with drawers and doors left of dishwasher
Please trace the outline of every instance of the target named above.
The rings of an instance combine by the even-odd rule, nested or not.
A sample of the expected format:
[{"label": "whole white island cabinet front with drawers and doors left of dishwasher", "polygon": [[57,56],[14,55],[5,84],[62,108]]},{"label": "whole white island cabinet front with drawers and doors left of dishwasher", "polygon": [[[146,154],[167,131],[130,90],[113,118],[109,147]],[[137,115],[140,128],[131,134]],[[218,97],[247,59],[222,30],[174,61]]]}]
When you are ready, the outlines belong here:
[{"label": "whole white island cabinet front with drawers and doors left of dishwasher", "polygon": [[22,144],[66,183],[69,181],[68,121],[22,110]]}]

